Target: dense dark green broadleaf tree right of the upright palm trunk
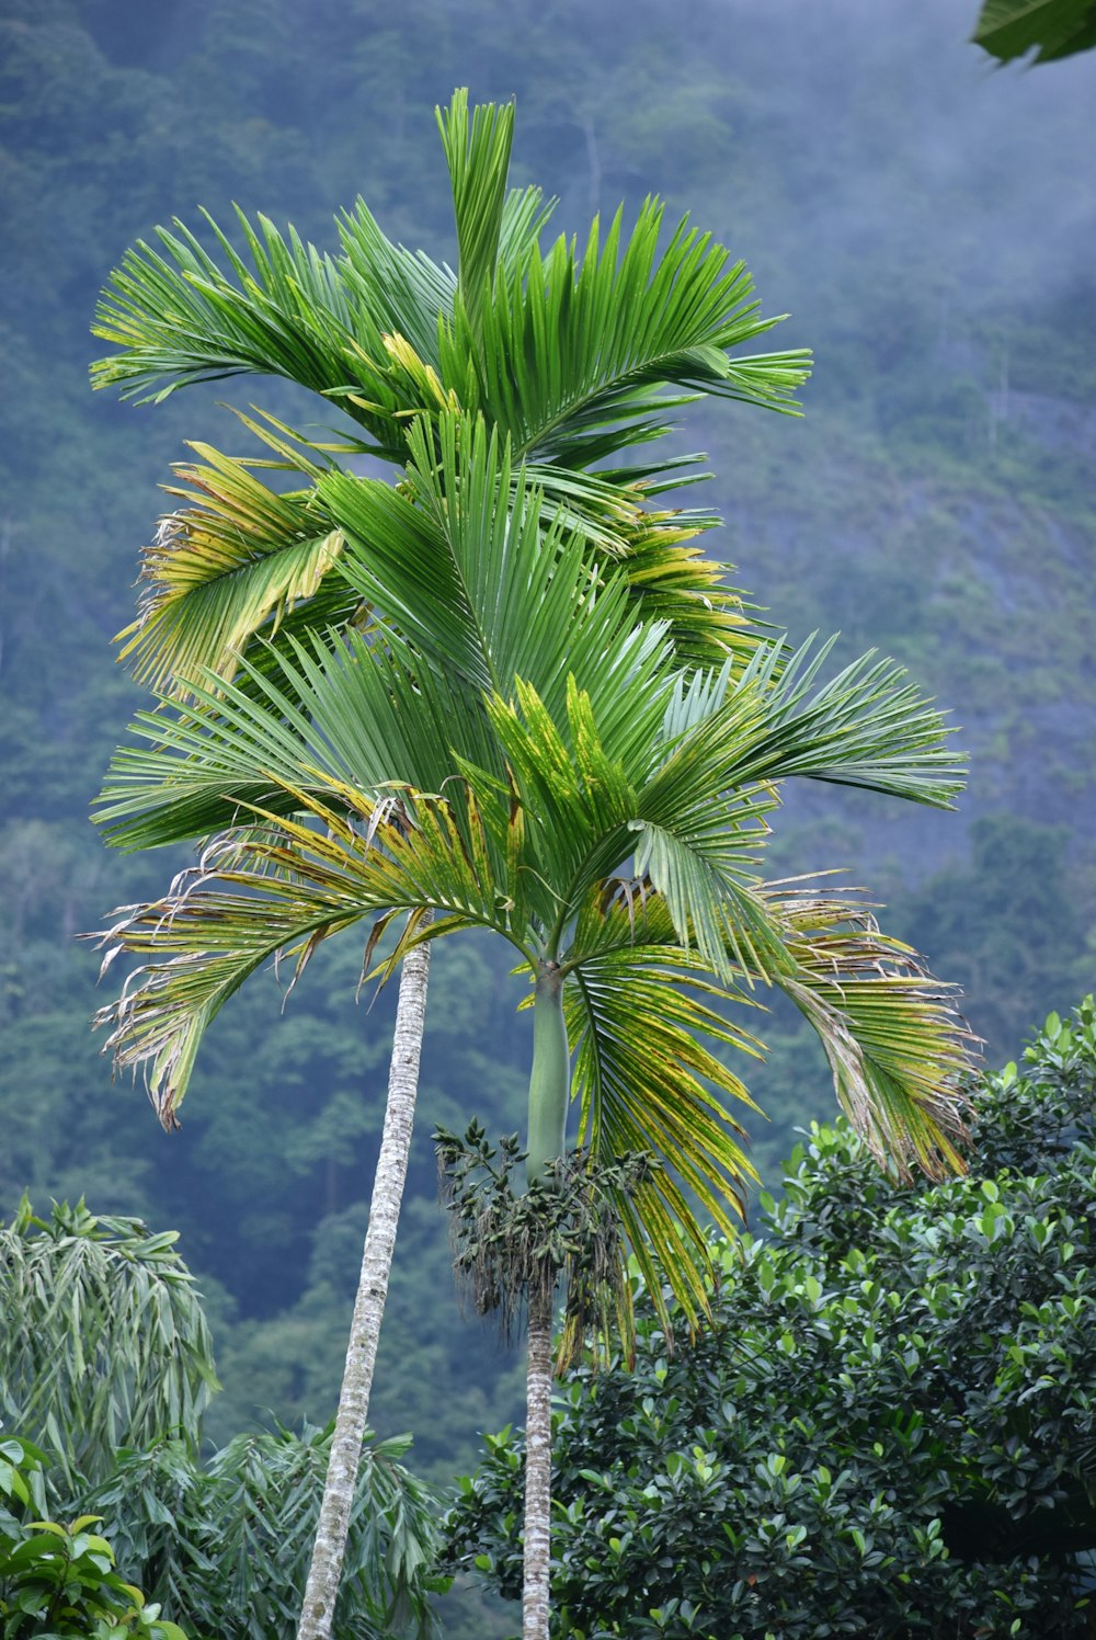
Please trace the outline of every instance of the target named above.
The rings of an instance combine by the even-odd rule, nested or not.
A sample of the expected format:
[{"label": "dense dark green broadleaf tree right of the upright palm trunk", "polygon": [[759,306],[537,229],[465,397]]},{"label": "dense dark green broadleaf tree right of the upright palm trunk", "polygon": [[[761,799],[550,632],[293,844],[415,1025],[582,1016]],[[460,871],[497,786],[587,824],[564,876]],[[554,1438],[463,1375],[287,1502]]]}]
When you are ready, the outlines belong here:
[{"label": "dense dark green broadleaf tree right of the upright palm trunk", "polygon": [[[812,1127],[768,1240],[719,1248],[715,1327],[579,1371],[556,1422],[559,1635],[1089,1632],[1096,1004],[978,1089],[971,1174],[897,1186]],[[509,1432],[450,1517],[517,1591]]]}]

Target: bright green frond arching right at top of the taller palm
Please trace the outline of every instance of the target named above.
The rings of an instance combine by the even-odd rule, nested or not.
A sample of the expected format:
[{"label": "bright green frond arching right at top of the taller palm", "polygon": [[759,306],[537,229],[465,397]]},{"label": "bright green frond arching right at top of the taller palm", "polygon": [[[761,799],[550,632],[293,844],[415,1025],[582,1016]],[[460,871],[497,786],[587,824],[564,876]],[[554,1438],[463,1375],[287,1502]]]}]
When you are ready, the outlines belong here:
[{"label": "bright green frond arching right at top of the taller palm", "polygon": [[473,330],[459,315],[441,336],[441,376],[474,382],[476,402],[517,454],[589,466],[660,436],[684,402],[666,385],[792,410],[804,351],[730,358],[763,320],[742,262],[683,221],[663,254],[663,207],[648,200],[622,243],[617,213],[604,246],[597,221],[584,256],[559,239],[545,259],[495,284]]}]

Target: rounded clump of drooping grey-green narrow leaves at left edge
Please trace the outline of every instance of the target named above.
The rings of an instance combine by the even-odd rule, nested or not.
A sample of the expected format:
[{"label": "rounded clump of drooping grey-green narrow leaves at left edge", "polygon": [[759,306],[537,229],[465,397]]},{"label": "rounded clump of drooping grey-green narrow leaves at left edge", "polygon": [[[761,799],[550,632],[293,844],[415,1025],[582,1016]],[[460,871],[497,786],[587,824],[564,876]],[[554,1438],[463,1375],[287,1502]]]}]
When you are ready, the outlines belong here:
[{"label": "rounded clump of drooping grey-green narrow leaves at left edge", "polygon": [[118,1446],[174,1433],[197,1451],[217,1378],[176,1240],[84,1202],[36,1219],[26,1199],[0,1230],[0,1412],[53,1455],[69,1494]]}]

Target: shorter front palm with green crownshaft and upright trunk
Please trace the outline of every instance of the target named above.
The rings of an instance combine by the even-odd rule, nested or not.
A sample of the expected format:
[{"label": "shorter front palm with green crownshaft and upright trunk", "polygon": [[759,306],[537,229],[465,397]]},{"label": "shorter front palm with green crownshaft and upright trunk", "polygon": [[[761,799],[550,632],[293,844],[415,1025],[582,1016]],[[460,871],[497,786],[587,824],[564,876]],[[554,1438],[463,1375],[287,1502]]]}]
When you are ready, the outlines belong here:
[{"label": "shorter front palm with green crownshaft and upright trunk", "polygon": [[[194,707],[144,713],[151,749],[116,754],[112,841],[217,840],[105,936],[105,961],[148,959],[105,1010],[110,1045],[171,1115],[207,1025],[269,958],[299,973],[366,917],[371,953],[407,915],[390,971],[491,928],[532,984],[530,1178],[564,1153],[571,1094],[591,1166],[655,1158],[620,1222],[650,1289],[661,1271],[696,1320],[704,1235],[683,1186],[730,1228],[751,1176],[728,1109],[748,1096],[699,1038],[760,1045],[719,1009],[781,987],[876,1151],[958,1164],[965,1040],[947,987],[853,899],[755,869],[781,779],[947,805],[958,761],[938,713],[873,656],[829,682],[829,646],[788,656],[779,641],[683,671],[673,623],[637,622],[627,564],[591,563],[569,505],[482,417],[422,415],[409,451],[399,490],[317,479],[369,635],[292,640],[277,676],[244,659],[240,681],[195,684]],[[541,1389],[533,1374],[532,1404]],[[545,1474],[530,1466],[528,1483],[543,1510]],[[546,1633],[538,1591],[543,1556],[530,1635]]]}]

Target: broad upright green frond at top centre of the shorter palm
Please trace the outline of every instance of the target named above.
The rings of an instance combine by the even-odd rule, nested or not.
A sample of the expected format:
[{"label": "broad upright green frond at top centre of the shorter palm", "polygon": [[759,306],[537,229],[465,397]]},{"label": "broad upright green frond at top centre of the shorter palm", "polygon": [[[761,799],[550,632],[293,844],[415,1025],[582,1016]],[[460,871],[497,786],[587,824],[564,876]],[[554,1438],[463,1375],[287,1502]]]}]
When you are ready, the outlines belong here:
[{"label": "broad upright green frond at top centre of the shorter palm", "polygon": [[409,433],[399,492],[331,476],[320,494],[348,538],[343,574],[386,626],[446,674],[504,699],[515,677],[563,713],[574,674],[619,708],[625,677],[668,669],[661,628],[637,626],[627,581],[591,566],[545,520],[540,492],[481,418],[441,412]]}]

